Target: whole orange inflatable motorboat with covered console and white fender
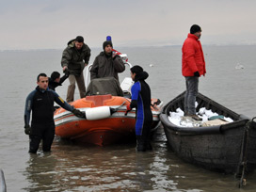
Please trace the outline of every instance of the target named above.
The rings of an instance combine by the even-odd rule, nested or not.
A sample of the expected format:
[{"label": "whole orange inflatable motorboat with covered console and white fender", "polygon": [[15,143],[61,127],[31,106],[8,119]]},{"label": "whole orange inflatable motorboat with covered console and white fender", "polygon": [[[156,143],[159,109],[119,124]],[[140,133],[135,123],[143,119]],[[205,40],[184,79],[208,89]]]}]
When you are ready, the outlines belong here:
[{"label": "whole orange inflatable motorboat with covered console and white fender", "polygon": [[[131,68],[127,55],[118,54],[123,63]],[[71,103],[85,113],[85,118],[77,118],[63,108],[56,109],[56,136],[99,146],[135,139],[136,109],[125,114],[126,105],[131,103],[129,98],[134,83],[132,78],[125,77],[121,85],[114,77],[94,79],[90,82],[91,66],[90,64],[86,68],[86,87],[90,90],[87,95],[91,96]],[[118,96],[120,93],[121,96]],[[152,99],[152,130],[160,124],[162,105],[160,100]]]}]

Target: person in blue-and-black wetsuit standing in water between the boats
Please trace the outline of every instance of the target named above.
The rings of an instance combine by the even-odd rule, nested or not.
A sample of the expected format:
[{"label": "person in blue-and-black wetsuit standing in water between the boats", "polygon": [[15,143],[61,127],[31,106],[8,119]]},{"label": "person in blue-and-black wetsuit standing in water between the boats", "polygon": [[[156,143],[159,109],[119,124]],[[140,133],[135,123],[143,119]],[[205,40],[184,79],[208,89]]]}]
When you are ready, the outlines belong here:
[{"label": "person in blue-and-black wetsuit standing in water between the boats", "polygon": [[132,101],[127,105],[126,114],[136,108],[136,151],[152,150],[150,142],[152,125],[152,93],[150,86],[145,82],[149,76],[143,68],[136,65],[131,68],[131,77],[135,81],[132,87]]}]

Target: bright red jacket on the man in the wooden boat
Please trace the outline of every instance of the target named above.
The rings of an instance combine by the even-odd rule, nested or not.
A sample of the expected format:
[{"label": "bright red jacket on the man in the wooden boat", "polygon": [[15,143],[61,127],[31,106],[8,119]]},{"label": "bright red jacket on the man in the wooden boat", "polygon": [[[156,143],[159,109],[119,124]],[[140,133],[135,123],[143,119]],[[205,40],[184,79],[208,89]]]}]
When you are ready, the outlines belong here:
[{"label": "bright red jacket on the man in the wooden boat", "polygon": [[206,73],[205,61],[199,38],[189,33],[183,46],[183,75],[194,76],[197,71],[200,75]]}]

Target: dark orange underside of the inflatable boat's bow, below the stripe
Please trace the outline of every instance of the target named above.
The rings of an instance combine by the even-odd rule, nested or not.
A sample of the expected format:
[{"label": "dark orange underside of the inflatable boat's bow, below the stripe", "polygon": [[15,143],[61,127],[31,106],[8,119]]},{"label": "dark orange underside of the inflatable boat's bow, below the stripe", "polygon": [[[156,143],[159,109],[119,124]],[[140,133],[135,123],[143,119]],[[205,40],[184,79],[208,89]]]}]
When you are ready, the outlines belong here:
[{"label": "dark orange underside of the inflatable boat's bow, below the stripe", "polygon": [[123,138],[133,138],[134,119],[108,118],[104,120],[72,120],[56,126],[56,136],[70,138],[79,143],[99,146],[116,143]]}]

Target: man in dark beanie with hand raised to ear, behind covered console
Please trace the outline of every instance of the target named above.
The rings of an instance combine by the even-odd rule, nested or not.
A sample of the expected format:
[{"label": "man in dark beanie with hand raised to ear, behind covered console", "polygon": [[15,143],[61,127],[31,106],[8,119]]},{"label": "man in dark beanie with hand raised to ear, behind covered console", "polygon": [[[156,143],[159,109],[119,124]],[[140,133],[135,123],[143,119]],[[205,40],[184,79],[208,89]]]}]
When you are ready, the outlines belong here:
[{"label": "man in dark beanie with hand raised to ear, behind covered console", "polygon": [[119,55],[113,54],[113,44],[111,40],[103,43],[104,51],[96,56],[90,69],[90,80],[103,77],[115,77],[119,82],[119,72],[125,70],[124,63]]}]

